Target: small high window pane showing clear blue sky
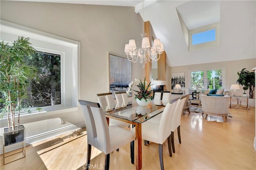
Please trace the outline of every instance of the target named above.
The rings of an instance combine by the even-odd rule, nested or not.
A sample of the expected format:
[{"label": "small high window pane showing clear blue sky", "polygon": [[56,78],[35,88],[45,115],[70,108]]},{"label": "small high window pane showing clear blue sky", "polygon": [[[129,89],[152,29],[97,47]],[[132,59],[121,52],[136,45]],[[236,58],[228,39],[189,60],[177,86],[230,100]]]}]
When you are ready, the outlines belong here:
[{"label": "small high window pane showing clear blue sky", "polygon": [[192,45],[216,40],[216,29],[192,34]]}]

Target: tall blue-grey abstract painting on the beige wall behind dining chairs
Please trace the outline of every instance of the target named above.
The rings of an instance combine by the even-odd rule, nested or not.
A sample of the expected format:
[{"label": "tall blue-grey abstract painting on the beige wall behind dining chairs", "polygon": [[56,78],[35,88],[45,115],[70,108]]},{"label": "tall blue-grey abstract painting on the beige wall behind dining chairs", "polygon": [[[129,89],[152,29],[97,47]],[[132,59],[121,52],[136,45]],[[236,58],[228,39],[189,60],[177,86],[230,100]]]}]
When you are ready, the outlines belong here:
[{"label": "tall blue-grey abstract painting on the beige wall behind dining chairs", "polygon": [[131,81],[132,62],[127,58],[109,54],[109,91],[126,91]]}]

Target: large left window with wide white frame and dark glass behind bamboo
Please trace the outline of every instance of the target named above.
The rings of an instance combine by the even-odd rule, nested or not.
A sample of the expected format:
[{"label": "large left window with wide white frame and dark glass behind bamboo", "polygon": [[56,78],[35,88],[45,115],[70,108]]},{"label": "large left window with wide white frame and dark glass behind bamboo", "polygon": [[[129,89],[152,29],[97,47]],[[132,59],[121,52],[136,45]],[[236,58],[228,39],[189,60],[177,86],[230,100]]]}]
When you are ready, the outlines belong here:
[{"label": "large left window with wide white frame and dark glass behind bamboo", "polygon": [[[3,25],[4,24],[4,25]],[[18,36],[30,38],[36,53],[28,58],[28,64],[38,68],[37,78],[31,82],[30,99],[26,104],[41,107],[41,114],[58,114],[75,111],[78,106],[80,70],[80,42],[54,36],[9,22],[1,21],[1,41],[11,43]],[[42,114],[43,113],[43,114]],[[28,113],[24,116],[30,118]]]}]

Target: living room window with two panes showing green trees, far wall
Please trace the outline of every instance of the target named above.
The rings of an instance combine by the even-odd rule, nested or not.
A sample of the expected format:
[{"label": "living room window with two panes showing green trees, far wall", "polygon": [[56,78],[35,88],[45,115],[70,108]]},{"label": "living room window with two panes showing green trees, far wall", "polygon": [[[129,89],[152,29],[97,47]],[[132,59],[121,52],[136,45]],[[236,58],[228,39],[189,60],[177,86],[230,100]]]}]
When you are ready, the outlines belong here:
[{"label": "living room window with two panes showing green trees, far wall", "polygon": [[224,69],[191,71],[192,89],[222,89]]}]

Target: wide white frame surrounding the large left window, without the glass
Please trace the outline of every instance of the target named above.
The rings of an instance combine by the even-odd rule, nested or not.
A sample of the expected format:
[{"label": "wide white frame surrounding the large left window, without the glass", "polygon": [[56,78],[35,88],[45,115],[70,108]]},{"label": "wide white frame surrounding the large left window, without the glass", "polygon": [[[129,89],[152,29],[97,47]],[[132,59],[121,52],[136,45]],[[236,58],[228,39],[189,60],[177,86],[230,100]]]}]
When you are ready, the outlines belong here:
[{"label": "wide white frame surrounding the large left window, without the glass", "polygon": [[[40,32],[31,28],[13,24],[1,20],[1,41],[12,44],[18,36],[30,38],[32,46],[42,52],[61,55],[61,104],[54,106],[40,107],[42,111],[32,110],[32,115],[22,111],[22,119],[42,117],[70,111],[77,111],[78,99],[80,98],[80,42]],[[70,83],[72,81],[73,83]],[[3,119],[7,119],[4,116]]]}]

